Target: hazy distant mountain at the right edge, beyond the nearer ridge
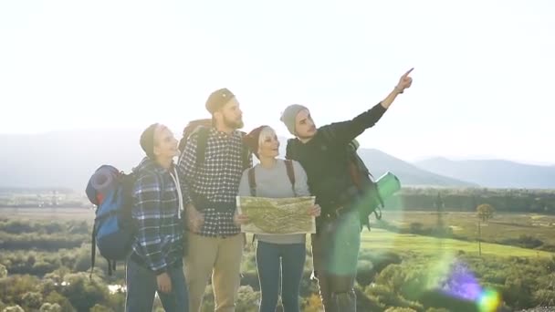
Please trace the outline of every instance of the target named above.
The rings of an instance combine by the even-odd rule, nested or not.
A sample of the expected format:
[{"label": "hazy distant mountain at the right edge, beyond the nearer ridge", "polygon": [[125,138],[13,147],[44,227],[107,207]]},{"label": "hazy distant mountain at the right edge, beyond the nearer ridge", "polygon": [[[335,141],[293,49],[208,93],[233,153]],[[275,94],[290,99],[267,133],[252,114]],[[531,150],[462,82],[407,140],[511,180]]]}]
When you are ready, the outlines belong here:
[{"label": "hazy distant mountain at the right edge, beyond the nearer ridge", "polygon": [[491,188],[555,189],[555,166],[539,166],[503,160],[451,161],[433,158],[415,165],[454,179]]}]

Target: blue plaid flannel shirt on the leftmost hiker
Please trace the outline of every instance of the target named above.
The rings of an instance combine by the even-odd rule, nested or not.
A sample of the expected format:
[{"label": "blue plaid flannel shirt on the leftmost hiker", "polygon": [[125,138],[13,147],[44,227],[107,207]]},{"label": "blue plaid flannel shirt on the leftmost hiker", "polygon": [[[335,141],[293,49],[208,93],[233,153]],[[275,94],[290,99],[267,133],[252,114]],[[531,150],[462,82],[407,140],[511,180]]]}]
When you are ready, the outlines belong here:
[{"label": "blue plaid flannel shirt on the leftmost hiker", "polygon": [[177,188],[170,175],[173,173],[147,158],[134,171],[137,180],[131,215],[137,232],[133,253],[160,274],[168,265],[183,259],[183,221]]}]

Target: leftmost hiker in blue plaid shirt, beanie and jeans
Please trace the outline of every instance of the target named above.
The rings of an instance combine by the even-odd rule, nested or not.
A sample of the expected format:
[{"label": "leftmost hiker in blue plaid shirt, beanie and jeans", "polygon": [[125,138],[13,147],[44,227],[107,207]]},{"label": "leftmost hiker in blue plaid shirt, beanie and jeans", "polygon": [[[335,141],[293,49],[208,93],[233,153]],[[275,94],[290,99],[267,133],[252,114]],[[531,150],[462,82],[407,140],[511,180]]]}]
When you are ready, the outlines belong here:
[{"label": "leftmost hiker in blue plaid shirt, beanie and jeans", "polygon": [[152,311],[155,292],[166,311],[188,311],[183,276],[183,197],[173,165],[177,140],[163,125],[153,124],[141,135],[146,157],[133,169],[131,215],[137,224],[127,262],[126,311]]}]

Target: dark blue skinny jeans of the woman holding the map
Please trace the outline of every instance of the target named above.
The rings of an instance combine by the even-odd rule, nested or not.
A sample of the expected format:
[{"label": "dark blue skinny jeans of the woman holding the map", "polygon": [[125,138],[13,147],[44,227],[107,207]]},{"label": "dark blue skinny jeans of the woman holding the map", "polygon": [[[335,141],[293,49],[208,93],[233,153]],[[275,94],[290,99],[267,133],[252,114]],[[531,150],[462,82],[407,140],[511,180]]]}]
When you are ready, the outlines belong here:
[{"label": "dark blue skinny jeans of the woman holding the map", "polygon": [[[257,269],[260,281],[260,312],[275,312],[279,284],[285,312],[298,312],[298,292],[307,248],[305,244],[271,244],[258,241]],[[281,268],[281,283],[279,269]]]}]

